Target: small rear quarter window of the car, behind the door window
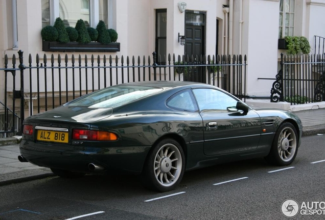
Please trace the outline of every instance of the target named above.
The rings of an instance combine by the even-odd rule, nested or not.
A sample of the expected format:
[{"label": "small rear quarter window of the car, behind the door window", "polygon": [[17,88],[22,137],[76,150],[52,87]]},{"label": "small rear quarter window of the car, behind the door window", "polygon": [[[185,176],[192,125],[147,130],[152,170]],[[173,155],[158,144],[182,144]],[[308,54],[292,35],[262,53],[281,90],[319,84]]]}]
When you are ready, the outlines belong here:
[{"label": "small rear quarter window of the car, behind the door window", "polygon": [[191,90],[176,93],[170,97],[167,106],[180,111],[196,112],[198,111],[193,93]]}]

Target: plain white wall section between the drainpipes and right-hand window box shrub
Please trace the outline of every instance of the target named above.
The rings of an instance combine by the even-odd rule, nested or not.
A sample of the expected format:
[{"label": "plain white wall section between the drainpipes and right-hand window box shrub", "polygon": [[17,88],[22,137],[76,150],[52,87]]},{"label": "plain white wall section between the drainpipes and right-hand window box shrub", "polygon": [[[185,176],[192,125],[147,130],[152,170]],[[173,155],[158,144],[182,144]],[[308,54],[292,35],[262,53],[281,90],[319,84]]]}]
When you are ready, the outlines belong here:
[{"label": "plain white wall section between the drainpipes and right-hand window box shrub", "polygon": [[[244,1],[243,54],[247,54],[247,94],[270,96],[277,74],[279,2]],[[249,6],[246,3],[249,2]]]}]

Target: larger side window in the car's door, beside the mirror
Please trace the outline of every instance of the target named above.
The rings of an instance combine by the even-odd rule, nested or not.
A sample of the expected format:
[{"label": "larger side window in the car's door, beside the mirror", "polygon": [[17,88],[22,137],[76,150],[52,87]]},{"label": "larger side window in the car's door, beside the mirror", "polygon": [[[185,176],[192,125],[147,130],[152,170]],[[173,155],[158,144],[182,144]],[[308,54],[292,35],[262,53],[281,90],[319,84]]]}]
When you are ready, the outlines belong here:
[{"label": "larger side window in the car's door, beside the mirror", "polygon": [[200,111],[227,111],[227,107],[236,107],[237,100],[215,89],[194,89]]}]

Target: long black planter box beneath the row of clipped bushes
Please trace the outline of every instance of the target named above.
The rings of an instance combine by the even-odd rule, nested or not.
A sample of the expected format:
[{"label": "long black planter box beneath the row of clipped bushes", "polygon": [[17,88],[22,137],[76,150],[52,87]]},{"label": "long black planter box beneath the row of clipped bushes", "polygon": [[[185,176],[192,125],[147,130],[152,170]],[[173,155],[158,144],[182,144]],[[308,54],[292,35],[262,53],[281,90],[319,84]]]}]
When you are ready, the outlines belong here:
[{"label": "long black planter box beneath the row of clipped bushes", "polygon": [[56,41],[42,41],[43,51],[52,52],[118,52],[120,43],[102,44],[90,42],[82,44],[78,42],[60,43]]}]

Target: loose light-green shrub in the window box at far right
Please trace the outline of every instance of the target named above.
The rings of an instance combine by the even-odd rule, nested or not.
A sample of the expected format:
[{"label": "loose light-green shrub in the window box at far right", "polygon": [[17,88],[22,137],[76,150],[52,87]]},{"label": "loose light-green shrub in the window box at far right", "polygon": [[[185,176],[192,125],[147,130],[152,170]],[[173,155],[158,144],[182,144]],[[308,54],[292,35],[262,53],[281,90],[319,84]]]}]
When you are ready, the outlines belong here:
[{"label": "loose light-green shrub in the window box at far right", "polygon": [[310,52],[310,44],[306,37],[287,36],[285,40],[288,54],[308,54]]}]

